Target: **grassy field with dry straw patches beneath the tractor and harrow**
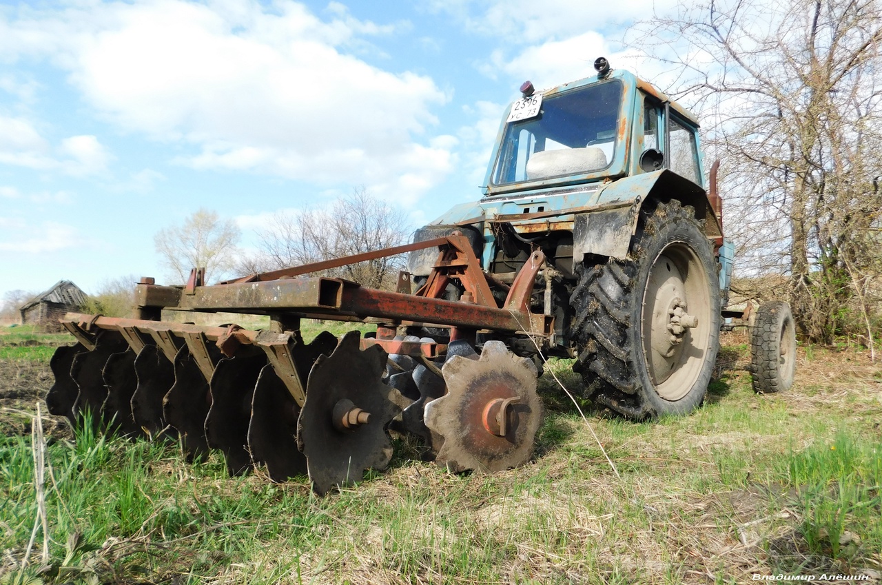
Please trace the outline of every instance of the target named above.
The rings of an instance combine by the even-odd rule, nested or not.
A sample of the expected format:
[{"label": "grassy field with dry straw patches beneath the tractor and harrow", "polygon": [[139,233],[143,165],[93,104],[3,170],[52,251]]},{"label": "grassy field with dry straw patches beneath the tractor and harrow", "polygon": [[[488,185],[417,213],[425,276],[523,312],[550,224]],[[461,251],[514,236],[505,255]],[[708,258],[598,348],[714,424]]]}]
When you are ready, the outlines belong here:
[{"label": "grassy field with dry straw patches beneath the tractor and harrow", "polygon": [[[800,347],[795,386],[758,396],[744,333],[724,334],[705,405],[640,424],[580,416],[553,362],[527,466],[452,475],[399,441],[390,469],[318,498],[45,414],[34,449],[69,340],[0,332],[0,583],[880,582],[882,368],[861,349]],[[41,506],[49,539],[30,542]]]}]

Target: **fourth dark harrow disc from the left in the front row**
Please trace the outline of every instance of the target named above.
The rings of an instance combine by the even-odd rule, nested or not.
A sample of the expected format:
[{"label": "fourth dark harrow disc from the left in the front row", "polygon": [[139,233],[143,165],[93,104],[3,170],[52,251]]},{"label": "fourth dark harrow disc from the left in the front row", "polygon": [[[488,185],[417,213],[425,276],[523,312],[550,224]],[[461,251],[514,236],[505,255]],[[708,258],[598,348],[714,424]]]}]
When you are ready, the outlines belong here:
[{"label": "fourth dark harrow disc from the left in the front row", "polygon": [[175,439],[177,432],[168,427],[162,414],[162,399],[175,384],[175,368],[155,345],[146,345],[135,357],[138,386],[131,397],[131,416],[139,429],[149,436],[159,433]]}]

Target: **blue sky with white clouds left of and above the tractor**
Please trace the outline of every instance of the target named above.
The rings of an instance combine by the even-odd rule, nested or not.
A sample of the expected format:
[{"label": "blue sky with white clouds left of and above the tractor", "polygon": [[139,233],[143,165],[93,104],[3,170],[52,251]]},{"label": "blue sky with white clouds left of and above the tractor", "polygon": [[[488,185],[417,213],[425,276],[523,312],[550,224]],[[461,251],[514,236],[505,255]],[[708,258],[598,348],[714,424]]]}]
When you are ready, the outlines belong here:
[{"label": "blue sky with white clouds left of and above the tractor", "polygon": [[669,4],[0,0],[0,297],[168,282],[153,236],[199,208],[246,252],[358,188],[417,228],[481,197],[524,80],[652,79],[619,41]]}]

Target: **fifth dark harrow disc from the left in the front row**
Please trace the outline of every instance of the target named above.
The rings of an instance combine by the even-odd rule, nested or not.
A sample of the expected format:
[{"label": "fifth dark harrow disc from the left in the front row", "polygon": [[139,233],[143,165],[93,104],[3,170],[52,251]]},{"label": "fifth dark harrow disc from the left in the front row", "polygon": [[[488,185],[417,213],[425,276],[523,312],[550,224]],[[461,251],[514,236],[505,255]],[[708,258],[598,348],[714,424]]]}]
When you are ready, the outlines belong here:
[{"label": "fifth dark harrow disc from the left in the front row", "polygon": [[[220,350],[213,345],[206,349],[212,362],[217,363]],[[211,406],[208,380],[186,345],[178,349],[174,365],[175,384],[162,399],[162,413],[168,424],[177,429],[187,460],[203,459],[208,454],[206,416]]]}]

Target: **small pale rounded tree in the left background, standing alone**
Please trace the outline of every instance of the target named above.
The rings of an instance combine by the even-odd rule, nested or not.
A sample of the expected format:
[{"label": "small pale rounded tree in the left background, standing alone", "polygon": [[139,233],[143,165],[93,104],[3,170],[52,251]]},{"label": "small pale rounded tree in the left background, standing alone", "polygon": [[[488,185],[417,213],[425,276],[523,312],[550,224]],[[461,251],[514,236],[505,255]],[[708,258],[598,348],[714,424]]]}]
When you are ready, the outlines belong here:
[{"label": "small pale rounded tree in the left background, standing alone", "polygon": [[156,251],[169,275],[183,283],[192,268],[206,268],[206,278],[219,281],[235,266],[236,244],[241,233],[233,220],[222,220],[208,209],[199,209],[182,225],[161,229],[153,236]]}]

